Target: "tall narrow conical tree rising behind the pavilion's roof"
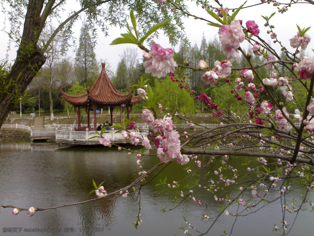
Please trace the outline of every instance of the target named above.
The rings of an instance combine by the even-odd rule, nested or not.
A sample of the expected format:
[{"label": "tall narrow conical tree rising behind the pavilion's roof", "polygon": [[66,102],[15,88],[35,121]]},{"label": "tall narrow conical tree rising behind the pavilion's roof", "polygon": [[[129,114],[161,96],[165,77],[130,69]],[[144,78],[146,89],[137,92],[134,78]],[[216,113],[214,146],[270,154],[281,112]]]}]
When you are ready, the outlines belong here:
[{"label": "tall narrow conical tree rising behind the pavilion's roof", "polygon": [[79,46],[75,56],[75,74],[80,83],[92,85],[99,73],[94,43],[89,33],[89,24],[83,22]]}]

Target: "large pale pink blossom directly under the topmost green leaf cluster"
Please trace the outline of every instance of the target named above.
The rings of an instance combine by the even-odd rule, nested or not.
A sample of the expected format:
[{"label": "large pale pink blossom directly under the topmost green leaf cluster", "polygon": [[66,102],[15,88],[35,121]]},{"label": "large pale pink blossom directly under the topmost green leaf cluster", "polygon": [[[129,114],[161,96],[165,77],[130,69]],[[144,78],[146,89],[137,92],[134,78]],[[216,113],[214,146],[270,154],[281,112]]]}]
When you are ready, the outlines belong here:
[{"label": "large pale pink blossom directly under the topmost green leaf cluster", "polygon": [[240,43],[242,43],[245,39],[239,20],[231,21],[230,25],[224,24],[220,26],[218,34],[219,40],[225,52],[231,51],[231,49],[228,48],[239,48]]}]

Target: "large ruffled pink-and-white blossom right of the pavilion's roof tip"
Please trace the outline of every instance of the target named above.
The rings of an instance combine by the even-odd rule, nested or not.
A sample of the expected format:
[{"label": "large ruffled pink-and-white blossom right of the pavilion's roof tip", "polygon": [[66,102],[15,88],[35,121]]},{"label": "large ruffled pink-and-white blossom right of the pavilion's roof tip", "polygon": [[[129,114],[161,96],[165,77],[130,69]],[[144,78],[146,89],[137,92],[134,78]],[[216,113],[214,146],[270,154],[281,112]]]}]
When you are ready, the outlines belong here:
[{"label": "large ruffled pink-and-white blossom right of the pavilion's roof tip", "polygon": [[173,60],[174,51],[171,48],[162,48],[155,42],[152,42],[151,46],[152,50],[149,51],[149,55],[152,58],[143,63],[145,72],[152,73],[152,76],[158,78],[165,77],[169,72],[174,73],[177,66]]}]

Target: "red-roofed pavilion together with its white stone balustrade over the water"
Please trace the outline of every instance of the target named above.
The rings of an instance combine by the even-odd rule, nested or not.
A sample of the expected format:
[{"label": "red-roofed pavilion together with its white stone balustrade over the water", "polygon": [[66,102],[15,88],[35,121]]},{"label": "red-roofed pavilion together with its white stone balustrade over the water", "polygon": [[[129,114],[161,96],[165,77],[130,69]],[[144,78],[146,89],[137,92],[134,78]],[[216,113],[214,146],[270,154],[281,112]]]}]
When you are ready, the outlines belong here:
[{"label": "red-roofed pavilion together with its white stone balustrade over the water", "polygon": [[[113,109],[115,106],[120,107],[120,123],[122,123],[122,114],[126,108],[127,118],[129,119],[130,112],[133,109],[133,104],[137,103],[140,100],[140,96],[133,97],[133,88],[128,94],[119,93],[116,88],[113,86],[111,80],[108,78],[105,71],[105,63],[102,63],[102,70],[97,80],[93,84],[92,88],[87,88],[85,94],[78,94],[77,96],[72,96],[64,93],[63,98],[70,104],[74,105],[74,110],[78,115],[78,127],[72,130],[58,130],[56,131],[56,142],[58,143],[67,143],[67,144],[99,144],[97,138],[89,139],[90,137],[96,136],[95,129],[97,127],[96,120],[96,110],[103,107],[109,107],[110,109],[110,120],[113,124]],[[87,113],[87,127],[81,127],[80,120],[80,108],[84,108]],[[94,127],[90,127],[89,121],[89,112],[93,110],[94,112]],[[135,129],[138,136],[145,135],[148,133],[148,127],[144,127],[142,133],[139,133],[138,129]],[[128,143],[128,140],[125,140],[121,133],[114,129],[107,130],[104,134],[104,137],[110,138],[116,143]]]}]

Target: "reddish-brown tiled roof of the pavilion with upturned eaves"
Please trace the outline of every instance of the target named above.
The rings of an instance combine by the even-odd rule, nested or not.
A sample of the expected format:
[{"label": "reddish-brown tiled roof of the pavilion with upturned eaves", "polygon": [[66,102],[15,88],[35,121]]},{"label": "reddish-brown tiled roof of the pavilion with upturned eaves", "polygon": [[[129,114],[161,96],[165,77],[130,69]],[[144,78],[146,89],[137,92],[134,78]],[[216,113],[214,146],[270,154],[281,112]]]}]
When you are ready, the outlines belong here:
[{"label": "reddish-brown tiled roof of the pavilion with upturned eaves", "polygon": [[87,105],[88,101],[99,105],[120,105],[120,104],[135,104],[140,98],[139,96],[133,97],[133,88],[128,94],[121,94],[113,86],[111,80],[105,71],[105,63],[101,64],[102,70],[97,80],[91,89],[87,89],[87,93],[73,96],[64,93],[61,90],[63,98],[73,105]]}]

